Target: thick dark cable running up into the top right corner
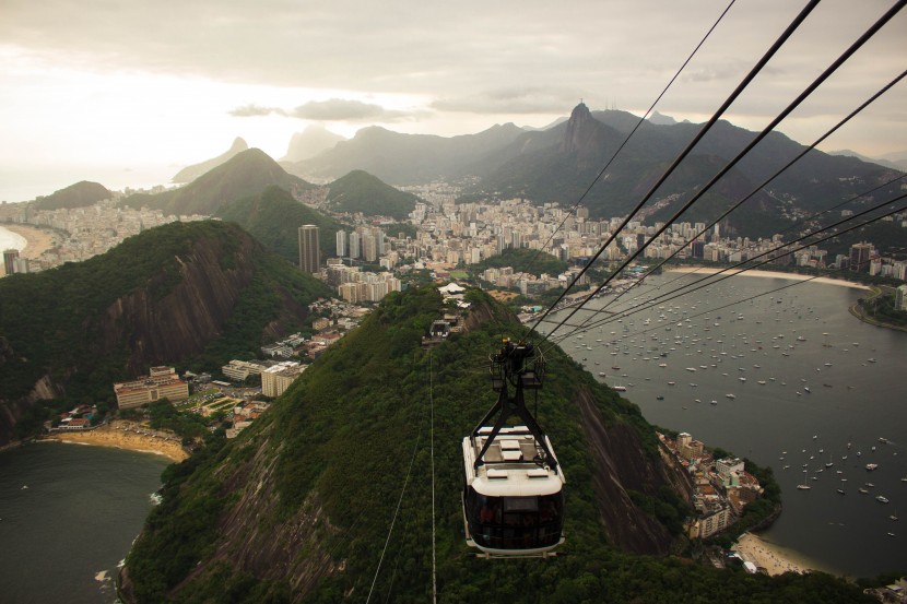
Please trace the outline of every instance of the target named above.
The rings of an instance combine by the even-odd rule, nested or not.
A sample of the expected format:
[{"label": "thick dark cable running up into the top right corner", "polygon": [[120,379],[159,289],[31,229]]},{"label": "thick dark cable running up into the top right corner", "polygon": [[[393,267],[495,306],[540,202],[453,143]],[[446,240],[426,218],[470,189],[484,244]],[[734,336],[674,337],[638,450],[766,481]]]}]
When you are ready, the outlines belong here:
[{"label": "thick dark cable running up into the top right corner", "polygon": [[[825,71],[822,72],[822,74],[818,75],[818,78],[816,78],[809,86],[806,86],[806,88],[802,93],[800,93],[800,95],[797,98],[794,98],[793,102],[791,102],[780,114],[778,114],[778,116],[775,117],[775,119],[773,119],[768,123],[768,126],[766,126],[762,130],[762,132],[759,132],[740,153],[738,153],[737,156],[733,159],[731,159],[723,168],[721,168],[718,171],[718,174],[716,174],[714,177],[711,177],[711,179],[704,187],[702,187],[699,189],[699,191],[690,199],[690,201],[687,201],[680,210],[678,210],[674,213],[673,216],[671,216],[671,218],[669,218],[664,223],[663,226],[661,226],[661,228],[656,230],[656,233],[649,238],[648,241],[646,241],[635,252],[629,254],[626,258],[626,260],[624,260],[621,263],[621,265],[608,279],[605,279],[601,283],[601,285],[599,285],[594,291],[592,291],[588,296],[586,296],[586,298],[584,299],[584,301],[581,304],[574,307],[574,309],[570,311],[569,315],[567,315],[567,317],[564,319],[564,321],[569,320],[574,315],[576,315],[576,312],[578,312],[580,308],[582,308],[599,292],[601,292],[604,288],[604,286],[608,285],[611,282],[611,280],[613,280],[616,275],[619,275],[621,273],[621,271],[623,271],[631,262],[633,262],[636,259],[636,257],[638,257],[640,253],[643,253],[643,251],[645,251],[645,249],[648,248],[649,245],[651,245],[651,242],[655,241],[655,239],[659,235],[664,233],[664,230],[667,230],[668,227],[671,226],[671,224],[673,224],[684,212],[686,212],[696,201],[698,201],[699,198],[702,198],[718,180],[720,180],[728,171],[730,171],[730,169],[733,168],[733,166],[735,166],[744,156],[746,156],[746,154],[749,154],[753,150],[753,147],[755,147],[759,142],[762,142],[762,140],[765,139],[765,137],[767,137],[775,129],[775,127],[777,127],[803,100],[805,100],[813,92],[815,92],[815,90],[823,82],[825,82],[825,80],[827,80],[835,71],[837,71],[837,69],[841,64],[844,64],[845,61],[847,61],[847,59],[849,59],[857,50],[859,50],[860,47],[862,47],[867,42],[869,42],[869,39],[872,38],[872,36],[874,36],[879,32],[879,29],[881,29],[888,21],[891,21],[891,19],[894,17],[900,11],[900,9],[904,8],[905,4],[907,4],[907,0],[899,0],[898,2],[895,3],[894,7],[888,9],[888,11],[885,12],[885,14],[883,14],[881,17],[879,17],[879,20],[876,20],[876,22],[873,23],[869,27],[869,29],[867,29],[863,33],[863,35],[861,35],[857,39],[857,42],[851,44],[850,47],[840,55],[840,57],[838,57],[831,66],[828,66],[828,68],[825,69]],[[586,265],[586,268],[588,268],[588,267],[589,267],[589,264]],[[556,331],[559,325],[555,327],[554,330],[552,330],[549,333],[549,335],[551,335],[551,333],[554,333],[554,331]],[[546,337],[547,336],[545,336],[545,339]],[[543,339],[542,341],[544,341],[545,339]]]}]

